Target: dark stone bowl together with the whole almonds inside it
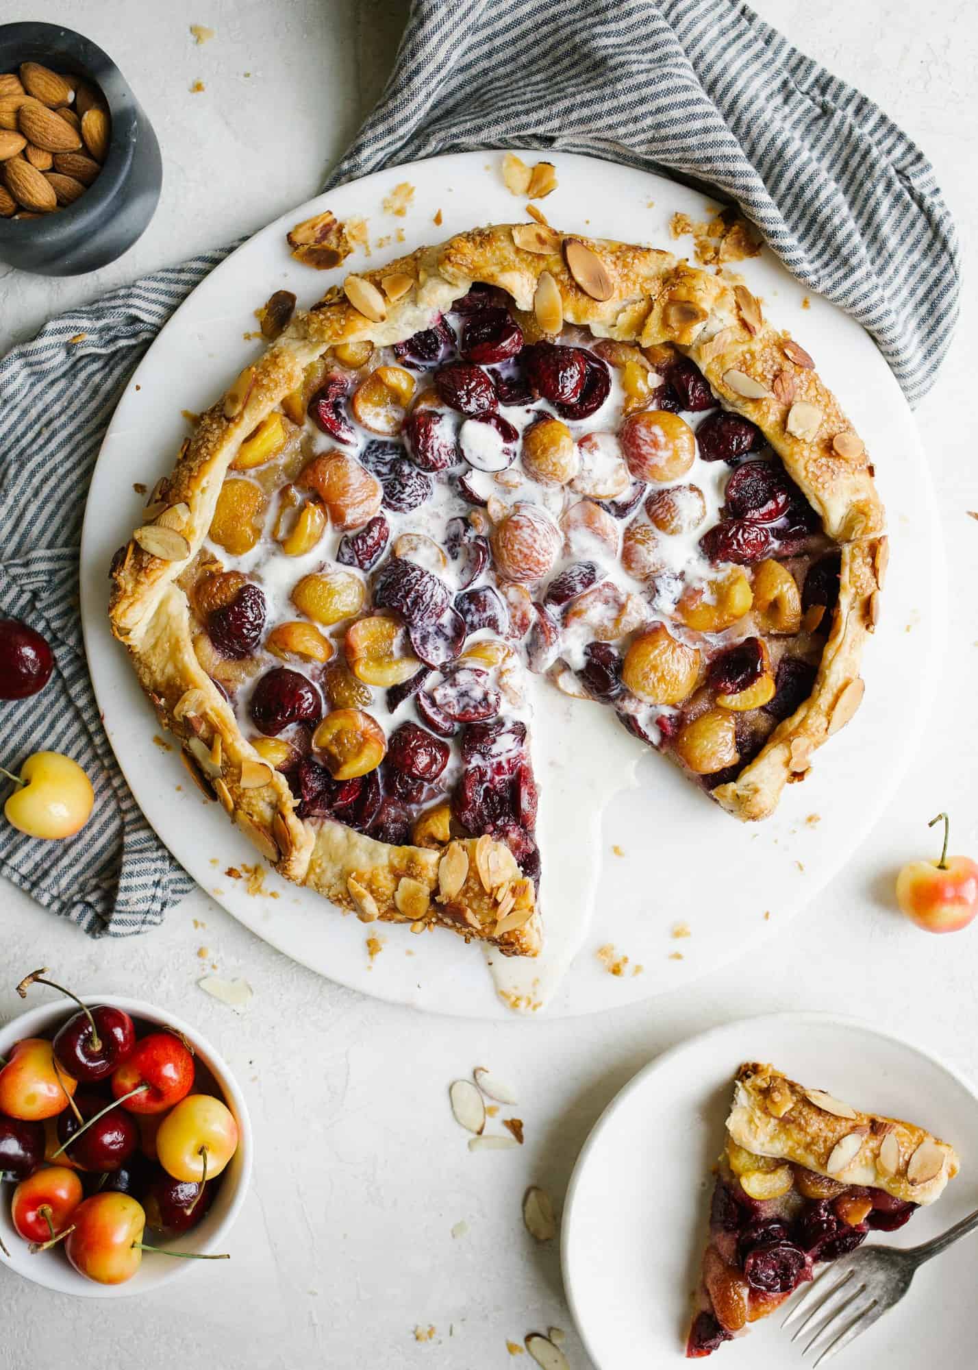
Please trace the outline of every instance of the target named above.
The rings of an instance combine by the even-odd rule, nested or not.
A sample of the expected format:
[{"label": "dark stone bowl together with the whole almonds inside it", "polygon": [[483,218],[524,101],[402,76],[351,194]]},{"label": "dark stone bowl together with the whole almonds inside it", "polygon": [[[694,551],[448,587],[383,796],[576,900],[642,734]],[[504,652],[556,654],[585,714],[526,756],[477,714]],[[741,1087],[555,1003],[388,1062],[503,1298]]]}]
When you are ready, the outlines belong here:
[{"label": "dark stone bowl together with the whole almonds inside it", "polygon": [[156,134],[101,48],[60,25],[0,26],[0,262],[105,266],[147,227],[162,182]]}]

